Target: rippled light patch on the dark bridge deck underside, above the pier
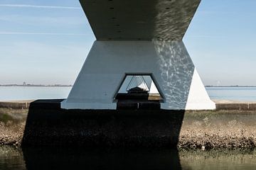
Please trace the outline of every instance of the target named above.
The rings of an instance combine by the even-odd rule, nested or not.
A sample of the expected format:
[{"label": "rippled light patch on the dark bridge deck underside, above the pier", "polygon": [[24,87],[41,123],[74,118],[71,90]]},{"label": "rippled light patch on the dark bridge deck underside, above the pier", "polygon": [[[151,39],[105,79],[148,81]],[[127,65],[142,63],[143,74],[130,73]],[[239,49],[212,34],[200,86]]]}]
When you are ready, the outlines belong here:
[{"label": "rippled light patch on the dark bridge deck underside, above the pier", "polygon": [[201,0],[159,0],[156,4],[154,38],[182,40]]}]

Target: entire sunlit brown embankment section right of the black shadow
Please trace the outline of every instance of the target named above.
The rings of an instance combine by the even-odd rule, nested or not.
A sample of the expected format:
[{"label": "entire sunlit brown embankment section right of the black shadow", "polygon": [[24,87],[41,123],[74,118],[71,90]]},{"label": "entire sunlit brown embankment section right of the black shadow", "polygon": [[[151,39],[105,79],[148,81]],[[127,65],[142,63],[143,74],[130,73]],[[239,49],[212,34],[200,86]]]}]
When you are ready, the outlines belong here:
[{"label": "entire sunlit brown embankment section right of the black shadow", "polygon": [[190,111],[184,115],[179,148],[255,148],[256,111]]}]

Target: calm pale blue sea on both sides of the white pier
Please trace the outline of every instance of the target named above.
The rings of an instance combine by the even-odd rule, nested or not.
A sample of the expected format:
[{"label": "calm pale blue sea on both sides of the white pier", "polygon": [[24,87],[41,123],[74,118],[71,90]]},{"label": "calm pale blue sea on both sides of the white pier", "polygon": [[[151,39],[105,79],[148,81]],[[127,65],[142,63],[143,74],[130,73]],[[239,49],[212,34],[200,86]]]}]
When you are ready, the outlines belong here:
[{"label": "calm pale blue sea on both sides of the white pier", "polygon": [[[67,98],[72,87],[0,86],[0,101]],[[207,87],[211,99],[256,101],[256,87]]]}]

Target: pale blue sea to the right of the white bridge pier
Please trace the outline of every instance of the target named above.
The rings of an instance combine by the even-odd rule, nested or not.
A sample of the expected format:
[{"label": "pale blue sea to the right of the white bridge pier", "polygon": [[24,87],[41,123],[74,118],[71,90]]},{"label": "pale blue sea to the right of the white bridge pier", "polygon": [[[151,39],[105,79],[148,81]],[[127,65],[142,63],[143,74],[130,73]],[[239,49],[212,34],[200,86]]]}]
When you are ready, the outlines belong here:
[{"label": "pale blue sea to the right of the white bridge pier", "polygon": [[206,87],[210,99],[256,101],[256,87]]}]

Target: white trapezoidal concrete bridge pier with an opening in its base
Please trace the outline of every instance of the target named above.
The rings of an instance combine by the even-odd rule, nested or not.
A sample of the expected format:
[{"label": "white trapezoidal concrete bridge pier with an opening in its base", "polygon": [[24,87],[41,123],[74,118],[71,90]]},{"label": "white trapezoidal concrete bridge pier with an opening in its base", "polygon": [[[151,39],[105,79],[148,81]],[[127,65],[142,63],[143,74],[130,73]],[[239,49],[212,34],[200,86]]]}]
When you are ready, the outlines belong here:
[{"label": "white trapezoidal concrete bridge pier with an opening in its base", "polygon": [[182,41],[96,40],[61,107],[116,109],[126,74],[151,74],[162,109],[215,109]]}]

